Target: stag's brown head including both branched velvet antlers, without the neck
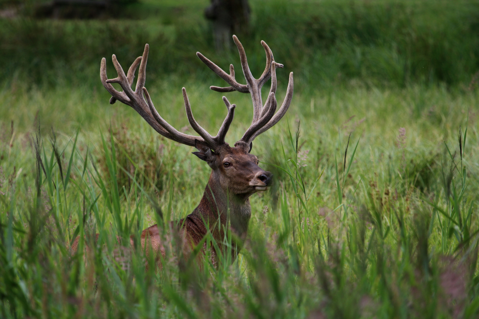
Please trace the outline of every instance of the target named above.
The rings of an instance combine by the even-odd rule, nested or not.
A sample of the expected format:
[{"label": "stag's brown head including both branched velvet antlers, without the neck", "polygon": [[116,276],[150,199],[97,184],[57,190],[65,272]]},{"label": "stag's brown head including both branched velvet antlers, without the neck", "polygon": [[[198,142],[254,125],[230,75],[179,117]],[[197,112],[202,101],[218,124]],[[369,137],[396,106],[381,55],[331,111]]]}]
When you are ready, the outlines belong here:
[{"label": "stag's brown head including both branched velvet antlers, without the neck", "polygon": [[[102,59],[100,68],[100,77],[103,86],[110,92],[112,98],[110,103],[116,100],[131,106],[135,109],[148,124],[164,137],[185,145],[194,146],[198,151],[194,152],[196,156],[204,160],[212,168],[209,184],[215,189],[233,194],[239,198],[248,198],[257,191],[264,191],[271,184],[271,173],[265,172],[258,166],[258,158],[251,154],[252,141],[262,132],[265,132],[276,124],[285,115],[293,97],[293,72],[289,75],[289,83],[283,104],[276,112],[277,102],[276,93],[276,68],[282,68],[283,65],[274,61],[273,53],[268,45],[262,41],[261,44],[266,52],[266,67],[261,77],[255,79],[251,75],[250,68],[246,59],[243,46],[238,38],[233,35],[233,40],[238,47],[241,60],[241,67],[247,84],[239,84],[235,79],[233,65],[229,67],[229,75],[216,64],[208,60],[204,55],[197,52],[196,55],[206,66],[212,69],[219,77],[223,78],[229,87],[210,87],[217,92],[239,91],[250,93],[253,103],[253,120],[251,126],[243,134],[243,137],[230,147],[225,142],[225,136],[228,132],[231,121],[233,120],[236,105],[230,104],[226,97],[223,102],[227,108],[227,115],[216,136],[206,132],[194,119],[186,89],[182,88],[186,116],[191,127],[199,136],[193,136],[178,132],[167,121],[163,120],[155,109],[153,102],[144,87],[146,78],[146,64],[148,59],[148,44],[142,56],[139,56],[128,69],[127,74],[118,63],[116,56],[112,60],[118,73],[118,77],[108,79],[106,76],[106,60]],[[138,79],[135,91],[131,88],[134,74],[139,65]],[[264,83],[271,78],[271,88],[264,105],[261,98],[261,89]],[[111,83],[118,83],[123,89],[119,92],[113,88]]]}]

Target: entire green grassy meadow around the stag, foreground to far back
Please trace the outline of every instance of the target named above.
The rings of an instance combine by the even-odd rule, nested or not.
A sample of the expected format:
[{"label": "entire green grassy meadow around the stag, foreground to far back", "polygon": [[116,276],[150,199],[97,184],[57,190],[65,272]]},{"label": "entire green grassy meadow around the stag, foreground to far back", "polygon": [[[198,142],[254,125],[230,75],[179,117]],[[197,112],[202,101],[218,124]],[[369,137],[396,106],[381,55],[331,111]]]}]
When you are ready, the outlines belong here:
[{"label": "entire green grassy meadow around the stag, foreground to far back", "polygon": [[[162,117],[194,134],[184,86],[217,132],[226,112],[209,86],[222,83],[195,52],[240,72],[235,50],[213,48],[208,2],[143,1],[94,21],[33,19],[26,6],[0,19],[1,317],[477,318],[477,1],[251,0],[239,39],[253,75],[264,40],[285,64],[278,100],[291,71],[295,94],[254,141],[274,185],[251,197],[237,260],[198,268],[165,231],[163,268],[145,270],[141,248],[110,240],[188,215],[210,168],[110,105],[100,60],[114,77],[111,54],[126,68],[149,43]],[[233,144],[251,99],[225,95]],[[77,235],[89,253],[70,253]]]}]

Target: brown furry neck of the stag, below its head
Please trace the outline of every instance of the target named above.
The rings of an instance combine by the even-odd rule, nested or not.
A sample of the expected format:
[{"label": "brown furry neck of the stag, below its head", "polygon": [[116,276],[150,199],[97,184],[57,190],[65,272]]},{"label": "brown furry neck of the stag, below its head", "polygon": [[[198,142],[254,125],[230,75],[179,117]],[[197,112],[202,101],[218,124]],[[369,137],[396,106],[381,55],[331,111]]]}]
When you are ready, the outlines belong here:
[{"label": "brown furry neck of the stag, below its head", "polygon": [[[217,225],[217,221],[222,226],[231,226],[234,235],[240,239],[246,237],[248,231],[248,222],[251,217],[251,205],[248,195],[237,195],[228,192],[228,189],[221,187],[219,173],[214,171],[205,187],[205,193],[201,198],[200,204],[194,209],[194,215],[201,215],[205,221],[209,220],[210,228]],[[217,228],[217,227],[216,227]],[[221,227],[221,229],[224,229]]]}]

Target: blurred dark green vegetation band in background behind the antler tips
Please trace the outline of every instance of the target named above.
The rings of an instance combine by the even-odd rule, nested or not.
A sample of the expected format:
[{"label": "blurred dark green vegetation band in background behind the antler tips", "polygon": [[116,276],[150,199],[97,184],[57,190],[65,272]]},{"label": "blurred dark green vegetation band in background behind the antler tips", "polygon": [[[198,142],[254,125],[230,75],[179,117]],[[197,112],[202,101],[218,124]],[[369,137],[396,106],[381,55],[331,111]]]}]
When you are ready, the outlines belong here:
[{"label": "blurred dark green vegetation band in background behind the antler tips", "polygon": [[[21,4],[21,5],[20,5]],[[100,59],[113,52],[130,63],[149,43],[148,78],[217,80],[200,51],[228,69],[235,48],[217,53],[209,1],[116,1],[99,19],[39,18],[37,1],[2,0],[0,76],[32,86],[100,86]],[[251,22],[240,40],[254,73],[266,41],[275,59],[304,85],[468,86],[479,70],[479,1],[251,0]],[[10,11],[11,12],[11,11]],[[6,14],[6,13],[5,13]],[[107,59],[109,60],[109,59]],[[111,65],[110,65],[111,67]]]}]

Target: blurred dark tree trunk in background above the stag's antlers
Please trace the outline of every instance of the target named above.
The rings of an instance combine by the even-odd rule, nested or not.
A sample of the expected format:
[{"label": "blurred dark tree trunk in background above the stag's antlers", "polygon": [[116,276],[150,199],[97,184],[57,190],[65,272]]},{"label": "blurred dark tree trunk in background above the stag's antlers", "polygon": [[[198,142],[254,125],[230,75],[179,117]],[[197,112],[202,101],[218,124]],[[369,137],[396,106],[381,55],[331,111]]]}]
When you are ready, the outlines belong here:
[{"label": "blurred dark tree trunk in background above the stag's antlers", "polygon": [[245,33],[250,22],[248,0],[211,0],[205,17],[213,22],[213,37],[218,51],[229,49],[233,33]]}]

